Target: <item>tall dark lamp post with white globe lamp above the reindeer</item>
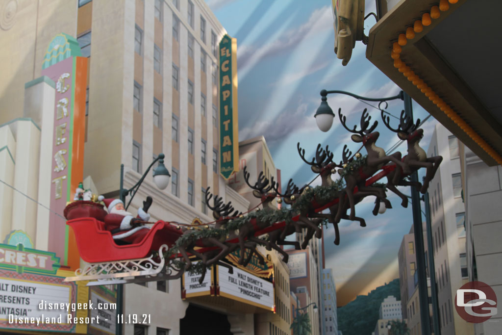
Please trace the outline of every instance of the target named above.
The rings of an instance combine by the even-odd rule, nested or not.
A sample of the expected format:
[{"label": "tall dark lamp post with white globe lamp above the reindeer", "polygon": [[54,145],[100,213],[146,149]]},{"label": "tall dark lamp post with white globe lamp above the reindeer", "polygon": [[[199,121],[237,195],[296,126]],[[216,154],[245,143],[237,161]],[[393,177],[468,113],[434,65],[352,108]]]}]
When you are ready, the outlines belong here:
[{"label": "tall dark lamp post with white globe lamp above the reindeer", "polygon": [[[411,97],[404,91],[400,91],[398,95],[383,97],[383,98],[368,98],[360,95],[356,95],[350,92],[341,91],[341,90],[331,90],[327,91],[323,89],[321,91],[321,105],[317,108],[317,112],[314,115],[316,118],[317,126],[323,132],[327,132],[333,123],[334,113],[331,107],[328,105],[326,96],[331,93],[345,94],[352,96],[354,98],[365,100],[365,101],[378,101],[379,109],[384,110],[385,108],[381,108],[382,103],[386,104],[389,100],[401,99],[404,101],[404,110],[405,114],[413,120],[413,110]],[[411,181],[418,182],[418,173],[417,171],[411,174]],[[420,194],[418,189],[414,186],[411,187],[411,198],[412,198],[412,209],[413,209],[413,227],[415,233],[415,249],[417,255],[417,273],[418,273],[418,288],[419,288],[419,301],[420,301],[420,318],[421,323],[424,325],[422,327],[423,335],[430,335],[431,329],[428,326],[429,322],[429,298],[428,298],[428,290],[427,290],[427,274],[425,268],[425,256],[424,256],[424,237],[422,232],[422,215],[421,215],[421,207],[420,207]],[[427,230],[430,230],[430,226],[427,225]],[[431,266],[433,266],[431,264]],[[431,271],[433,269],[431,268]]]}]

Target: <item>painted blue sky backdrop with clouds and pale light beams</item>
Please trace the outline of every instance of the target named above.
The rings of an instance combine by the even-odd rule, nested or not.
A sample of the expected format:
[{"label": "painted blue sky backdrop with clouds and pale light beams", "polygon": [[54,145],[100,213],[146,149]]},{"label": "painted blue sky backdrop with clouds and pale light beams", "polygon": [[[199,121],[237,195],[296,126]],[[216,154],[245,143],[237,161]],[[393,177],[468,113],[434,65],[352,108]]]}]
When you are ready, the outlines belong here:
[{"label": "painted blue sky backdrop with clouds and pale light beams", "polygon": [[[223,27],[237,39],[239,140],[264,135],[275,165],[282,171],[283,185],[293,178],[299,186],[315,174],[298,156],[296,144],[313,157],[318,143],[329,145],[335,160],[341,160],[343,144],[355,152],[359,144],[335,118],[331,130],[321,132],[314,114],[321,89],[339,89],[367,97],[398,94],[396,86],[365,58],[365,45],[358,41],[347,66],[341,65],[333,51],[334,30],[329,0],[206,0]],[[376,12],[375,2],[366,1],[365,15]],[[364,33],[375,24],[369,17]],[[366,104],[345,95],[328,95],[328,103],[341,108],[348,124],[359,123],[360,113],[368,108],[372,120],[379,120],[381,136],[377,144],[390,149],[397,135],[385,128],[375,103]],[[389,103],[387,110],[399,117],[402,100]],[[415,118],[428,116],[413,102]],[[394,122],[397,122],[394,119]],[[431,117],[423,125],[422,147],[427,150],[436,121]],[[394,127],[397,123],[393,124]],[[398,150],[406,154],[406,145]],[[307,155],[306,155],[307,156]],[[421,179],[421,177],[420,177]],[[318,178],[315,184],[320,183]],[[409,190],[404,190],[410,194]],[[412,209],[401,207],[401,200],[388,192],[393,209],[373,216],[373,199],[356,206],[358,222],[342,220],[340,245],[333,244],[332,227],[325,232],[326,267],[333,269],[338,305],[358,294],[367,294],[377,286],[398,278],[397,254],[402,238],[412,225]]]}]

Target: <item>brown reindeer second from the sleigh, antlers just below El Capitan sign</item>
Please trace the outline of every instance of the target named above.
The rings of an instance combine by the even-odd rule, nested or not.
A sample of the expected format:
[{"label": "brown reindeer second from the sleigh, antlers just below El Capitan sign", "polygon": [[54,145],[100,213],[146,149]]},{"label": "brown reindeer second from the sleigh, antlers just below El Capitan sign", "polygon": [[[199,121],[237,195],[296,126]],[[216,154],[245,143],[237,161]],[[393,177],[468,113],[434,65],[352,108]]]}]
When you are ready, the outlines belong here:
[{"label": "brown reindeer second from the sleigh, antlers just below El Capitan sign", "polygon": [[[271,178],[270,182],[269,180],[264,176],[263,171],[260,172],[258,176],[258,180],[255,183],[255,185],[251,185],[249,183],[249,172],[246,171],[246,168],[244,167],[244,180],[246,184],[253,189],[253,195],[257,198],[262,199],[262,206],[263,210],[278,210],[277,207],[275,207],[272,204],[272,201],[276,198],[277,193],[276,192],[269,192],[274,189],[275,186],[275,181],[273,178]],[[245,248],[245,243],[247,241],[255,242],[261,245],[265,245],[267,247],[271,247],[278,251],[280,254],[283,255],[283,261],[285,263],[288,262],[289,255],[279,248],[276,244],[265,242],[263,240],[260,240],[259,238],[255,237],[255,233],[257,231],[263,230],[267,227],[270,227],[274,222],[267,222],[267,221],[262,221],[257,218],[251,219],[249,222],[246,224],[242,225],[239,228],[239,233],[238,233],[238,239],[239,239],[239,246],[240,246],[240,258],[238,263],[243,264],[244,263],[244,248]]]}]

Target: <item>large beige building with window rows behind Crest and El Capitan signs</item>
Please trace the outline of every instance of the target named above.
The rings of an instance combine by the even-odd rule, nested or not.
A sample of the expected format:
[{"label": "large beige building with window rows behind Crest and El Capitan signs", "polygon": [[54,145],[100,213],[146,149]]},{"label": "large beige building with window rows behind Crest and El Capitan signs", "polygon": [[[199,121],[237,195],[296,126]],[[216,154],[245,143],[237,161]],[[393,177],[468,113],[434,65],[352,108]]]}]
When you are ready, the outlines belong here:
[{"label": "large beige building with window rows behind Crest and El Capitan signs", "polygon": [[[249,208],[220,176],[218,44],[226,31],[204,1],[23,2],[13,19],[2,26],[2,41],[11,47],[1,52],[7,63],[0,65],[0,102],[6,112],[0,123],[24,116],[25,83],[40,77],[53,37],[68,34],[88,60],[83,176],[92,177],[100,194],[118,197],[121,164],[124,188],[130,188],[164,153],[171,173],[168,188],[157,189],[150,172],[130,211],[151,195],[153,221],[212,221],[204,203],[209,187],[235,209]],[[124,324],[124,333],[180,333],[180,319],[190,305],[181,299],[180,286],[179,281],[124,285],[124,314],[151,314],[150,324]],[[218,309],[233,329],[253,329],[252,314],[201,306]]]}]

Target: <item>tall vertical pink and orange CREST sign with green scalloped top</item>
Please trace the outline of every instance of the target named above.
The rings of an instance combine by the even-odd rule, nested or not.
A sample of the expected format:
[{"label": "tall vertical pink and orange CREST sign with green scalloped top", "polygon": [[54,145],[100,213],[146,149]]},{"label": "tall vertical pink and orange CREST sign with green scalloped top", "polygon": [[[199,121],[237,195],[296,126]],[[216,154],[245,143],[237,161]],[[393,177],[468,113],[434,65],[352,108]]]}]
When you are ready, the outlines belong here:
[{"label": "tall vertical pink and orange CREST sign with green scalloped top", "polygon": [[49,251],[55,252],[61,263],[71,269],[80,266],[75,237],[64,218],[55,213],[63,212],[83,180],[87,58],[81,55],[75,38],[58,34],[49,44],[42,63],[42,75],[56,83]]}]

